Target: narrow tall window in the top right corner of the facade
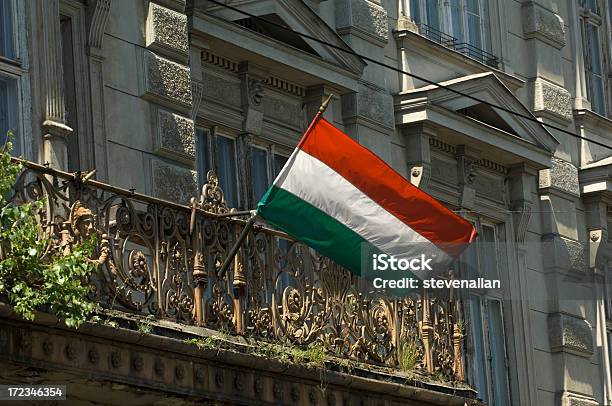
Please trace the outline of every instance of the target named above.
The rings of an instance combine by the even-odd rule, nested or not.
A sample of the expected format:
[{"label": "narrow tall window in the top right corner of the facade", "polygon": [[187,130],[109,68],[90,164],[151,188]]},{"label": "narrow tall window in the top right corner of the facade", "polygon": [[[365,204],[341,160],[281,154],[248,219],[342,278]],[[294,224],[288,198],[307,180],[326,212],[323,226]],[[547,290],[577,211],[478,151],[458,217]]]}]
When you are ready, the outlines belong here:
[{"label": "narrow tall window in the top right corner of the facade", "polygon": [[591,110],[606,116],[605,74],[603,67],[601,8],[597,0],[582,0],[582,36],[587,95]]}]

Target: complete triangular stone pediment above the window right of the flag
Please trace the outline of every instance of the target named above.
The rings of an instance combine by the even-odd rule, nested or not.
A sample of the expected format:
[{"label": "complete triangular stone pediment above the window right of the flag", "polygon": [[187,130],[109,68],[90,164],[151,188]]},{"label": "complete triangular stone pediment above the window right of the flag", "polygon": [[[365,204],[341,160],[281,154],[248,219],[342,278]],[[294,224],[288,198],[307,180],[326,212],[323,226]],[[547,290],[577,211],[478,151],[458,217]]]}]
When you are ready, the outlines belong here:
[{"label": "complete triangular stone pediment above the window right of the flag", "polygon": [[[467,75],[441,83],[446,88],[428,85],[400,93],[397,97],[402,108],[436,106],[459,113],[487,126],[517,136],[547,152],[554,152],[559,142],[541,124],[526,118],[494,109],[452,90],[473,96],[485,102],[503,106],[526,116],[533,117],[529,109],[492,72]],[[452,90],[449,90],[452,89]],[[396,103],[397,105],[397,103]],[[397,110],[397,108],[396,108]]]}]

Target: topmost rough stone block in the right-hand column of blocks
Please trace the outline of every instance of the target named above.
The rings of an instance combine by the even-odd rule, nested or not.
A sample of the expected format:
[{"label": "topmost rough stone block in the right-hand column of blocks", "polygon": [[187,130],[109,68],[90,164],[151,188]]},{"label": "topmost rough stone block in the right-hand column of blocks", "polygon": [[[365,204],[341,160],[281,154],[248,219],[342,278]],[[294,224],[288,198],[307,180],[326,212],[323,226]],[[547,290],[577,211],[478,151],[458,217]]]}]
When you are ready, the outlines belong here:
[{"label": "topmost rough stone block in the right-hand column of blocks", "polygon": [[530,1],[522,7],[523,34],[525,38],[537,38],[557,49],[565,46],[565,24],[558,14]]}]

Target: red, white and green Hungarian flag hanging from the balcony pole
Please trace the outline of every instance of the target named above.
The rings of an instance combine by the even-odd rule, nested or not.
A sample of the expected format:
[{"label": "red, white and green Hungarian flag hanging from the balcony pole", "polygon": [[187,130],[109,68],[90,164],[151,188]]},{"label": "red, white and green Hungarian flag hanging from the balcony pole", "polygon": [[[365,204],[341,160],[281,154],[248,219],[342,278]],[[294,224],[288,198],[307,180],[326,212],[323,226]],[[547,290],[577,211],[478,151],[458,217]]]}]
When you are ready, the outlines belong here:
[{"label": "red, white and green Hungarian flag hanging from the balcony pole", "polygon": [[[448,264],[476,237],[470,222],[320,114],[257,212],[361,276],[372,268],[372,254],[406,260],[426,257],[432,258],[432,265]],[[427,271],[411,273],[419,279],[434,276]]]}]

